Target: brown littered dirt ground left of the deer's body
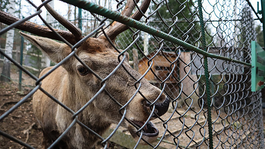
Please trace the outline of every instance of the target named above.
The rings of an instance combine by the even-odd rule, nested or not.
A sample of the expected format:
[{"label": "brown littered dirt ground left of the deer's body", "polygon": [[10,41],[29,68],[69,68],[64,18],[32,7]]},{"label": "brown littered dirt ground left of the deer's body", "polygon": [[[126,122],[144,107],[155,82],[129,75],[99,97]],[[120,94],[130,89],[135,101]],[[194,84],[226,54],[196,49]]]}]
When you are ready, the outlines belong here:
[{"label": "brown littered dirt ground left of the deer's body", "polygon": [[[27,91],[20,92],[12,84],[0,84],[0,115],[22,99]],[[9,114],[0,123],[0,130],[41,149],[41,128],[32,111],[32,97]],[[23,146],[0,135],[0,149],[23,149]]]}]

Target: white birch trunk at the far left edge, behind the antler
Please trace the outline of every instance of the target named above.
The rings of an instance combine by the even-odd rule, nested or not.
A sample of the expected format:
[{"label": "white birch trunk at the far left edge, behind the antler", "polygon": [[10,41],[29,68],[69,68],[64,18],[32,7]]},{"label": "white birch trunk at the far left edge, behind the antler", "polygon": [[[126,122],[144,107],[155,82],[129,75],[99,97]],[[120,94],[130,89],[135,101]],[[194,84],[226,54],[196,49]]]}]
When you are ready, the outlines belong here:
[{"label": "white birch trunk at the far left edge, behind the antler", "polygon": [[[9,14],[15,13],[15,0],[9,0],[7,12]],[[6,33],[6,41],[5,41],[5,54],[10,58],[12,58],[13,41],[14,41],[14,29],[10,29]],[[6,57],[4,57],[0,81],[4,82],[10,81],[10,66],[11,66],[10,61]]]}]

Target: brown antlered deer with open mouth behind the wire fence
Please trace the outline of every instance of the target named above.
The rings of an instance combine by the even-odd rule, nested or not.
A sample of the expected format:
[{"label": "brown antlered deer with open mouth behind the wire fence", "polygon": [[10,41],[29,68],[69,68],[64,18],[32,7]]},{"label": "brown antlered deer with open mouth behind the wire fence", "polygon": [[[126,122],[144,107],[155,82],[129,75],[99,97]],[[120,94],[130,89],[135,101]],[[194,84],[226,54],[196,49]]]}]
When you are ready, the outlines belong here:
[{"label": "brown antlered deer with open mouth behind the wire fence", "polygon": [[[140,5],[139,8],[143,13],[147,10],[149,3],[150,0],[144,0]],[[58,14],[48,4],[45,7],[56,20],[69,30],[56,29],[56,32],[64,37],[68,43],[74,45],[84,39],[80,29]],[[128,0],[122,14],[139,20],[142,17],[142,13],[139,11],[131,15],[134,7],[133,0]],[[10,20],[0,19],[8,25],[18,20],[14,16],[0,11],[0,18],[2,16],[11,18]],[[72,52],[72,47],[69,44],[56,41],[61,39],[54,36],[49,28],[29,21],[16,28],[39,35],[20,32],[24,38],[56,63],[66,59]],[[118,57],[122,50],[117,51],[111,42],[115,44],[116,37],[127,29],[126,25],[114,21],[105,34],[89,37],[76,48],[75,55],[81,61],[72,56],[54,71],[51,72],[54,67],[48,67],[41,72],[39,77],[51,72],[41,80],[42,89],[38,89],[34,93],[32,100],[34,115],[43,131],[43,148],[46,149],[51,146],[73,122],[73,114],[52,100],[51,96],[73,112],[77,112],[93,98],[93,101],[79,112],[77,120],[100,136],[106,132],[111,124],[118,124],[121,121],[123,115],[119,109],[126,105],[126,119],[122,121],[121,126],[129,130],[135,141],[139,140],[139,136],[142,134],[140,144],[152,143],[157,140],[159,130],[151,121],[167,112],[170,100],[159,88],[150,84],[141,74],[133,70],[129,65],[127,52],[121,56],[124,61],[119,61]],[[120,66],[116,69],[121,63],[123,67]],[[113,73],[114,70],[115,73]],[[112,75],[110,75],[111,73]],[[104,82],[104,91],[99,94],[97,92],[103,85],[101,79],[94,74],[103,79],[107,78]],[[135,85],[136,80],[138,83]],[[139,88],[138,91],[137,88]],[[97,96],[95,96],[96,94]],[[142,129],[139,130],[139,128]],[[87,131],[79,124],[74,124],[53,147],[94,149],[99,141],[100,139],[94,133]]]}]

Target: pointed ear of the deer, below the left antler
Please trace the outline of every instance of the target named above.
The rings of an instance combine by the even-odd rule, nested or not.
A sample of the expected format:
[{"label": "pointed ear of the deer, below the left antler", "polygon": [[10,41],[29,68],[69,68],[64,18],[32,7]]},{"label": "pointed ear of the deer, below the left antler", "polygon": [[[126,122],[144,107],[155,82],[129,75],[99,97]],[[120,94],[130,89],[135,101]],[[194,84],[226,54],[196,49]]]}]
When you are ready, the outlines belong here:
[{"label": "pointed ear of the deer, below the left antler", "polygon": [[71,48],[66,44],[56,42],[49,38],[28,35],[23,32],[19,33],[56,63],[59,63],[71,53]]}]

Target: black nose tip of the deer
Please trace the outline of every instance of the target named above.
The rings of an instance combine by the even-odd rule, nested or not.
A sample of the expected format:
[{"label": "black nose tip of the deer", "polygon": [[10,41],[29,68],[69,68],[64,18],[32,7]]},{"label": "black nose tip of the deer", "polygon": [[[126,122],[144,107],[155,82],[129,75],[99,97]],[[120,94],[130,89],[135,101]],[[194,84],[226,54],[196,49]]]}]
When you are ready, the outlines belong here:
[{"label": "black nose tip of the deer", "polygon": [[[151,105],[151,103],[147,103],[147,107],[149,107]],[[156,102],[154,103],[155,105],[155,113],[158,116],[162,116],[164,115],[169,107],[169,98],[166,97],[166,99],[163,102]],[[157,117],[156,115],[154,115],[154,117]]]}]

